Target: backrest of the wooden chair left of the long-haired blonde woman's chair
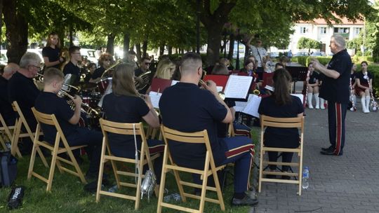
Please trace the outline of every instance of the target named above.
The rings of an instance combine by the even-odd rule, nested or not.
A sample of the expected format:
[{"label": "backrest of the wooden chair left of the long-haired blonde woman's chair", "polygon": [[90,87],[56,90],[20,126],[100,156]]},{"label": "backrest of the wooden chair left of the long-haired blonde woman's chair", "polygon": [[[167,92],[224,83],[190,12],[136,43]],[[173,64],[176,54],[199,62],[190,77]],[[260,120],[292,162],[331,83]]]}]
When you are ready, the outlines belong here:
[{"label": "backrest of the wooden chair left of the long-haired blonde woman's chair", "polygon": [[54,114],[41,113],[40,111],[37,111],[34,107],[32,107],[32,112],[33,112],[34,116],[36,117],[36,121],[37,121],[36,139],[39,138],[39,134],[41,132],[41,123],[44,123],[46,125],[53,125],[55,127],[55,129],[57,130],[57,134],[55,135],[55,144],[59,144],[60,139],[62,139],[62,142],[65,145],[65,147],[69,148],[66,137],[63,134],[63,131],[60,128],[58,120]]}]

